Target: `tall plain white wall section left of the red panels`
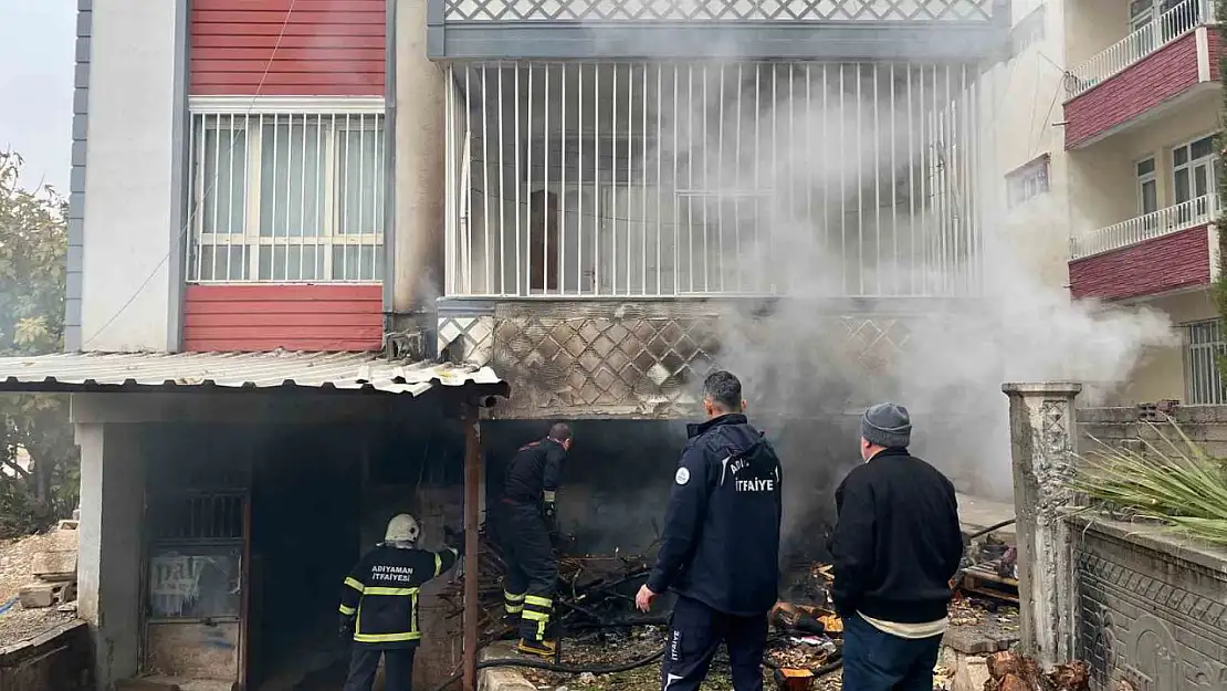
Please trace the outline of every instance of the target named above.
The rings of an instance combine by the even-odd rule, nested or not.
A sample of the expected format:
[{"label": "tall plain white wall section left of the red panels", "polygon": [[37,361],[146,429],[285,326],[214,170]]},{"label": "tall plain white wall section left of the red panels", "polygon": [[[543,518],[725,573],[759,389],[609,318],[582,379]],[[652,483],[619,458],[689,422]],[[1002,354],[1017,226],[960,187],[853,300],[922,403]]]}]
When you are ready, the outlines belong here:
[{"label": "tall plain white wall section left of the red panels", "polygon": [[177,345],[185,7],[109,0],[91,12],[81,284],[70,295],[81,301],[80,342],[70,347]]}]

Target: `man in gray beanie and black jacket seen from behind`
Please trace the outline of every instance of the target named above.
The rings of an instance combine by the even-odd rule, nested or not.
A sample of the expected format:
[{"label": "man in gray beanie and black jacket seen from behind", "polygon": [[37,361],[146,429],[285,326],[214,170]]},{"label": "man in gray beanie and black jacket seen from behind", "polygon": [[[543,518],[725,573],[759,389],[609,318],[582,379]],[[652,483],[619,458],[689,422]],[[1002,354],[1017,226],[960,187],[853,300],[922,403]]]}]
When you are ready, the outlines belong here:
[{"label": "man in gray beanie and black jacket seen from behind", "polygon": [[930,691],[963,556],[955,486],[908,453],[908,409],[860,419],[860,455],[836,491],[831,596],[844,621],[844,691]]}]

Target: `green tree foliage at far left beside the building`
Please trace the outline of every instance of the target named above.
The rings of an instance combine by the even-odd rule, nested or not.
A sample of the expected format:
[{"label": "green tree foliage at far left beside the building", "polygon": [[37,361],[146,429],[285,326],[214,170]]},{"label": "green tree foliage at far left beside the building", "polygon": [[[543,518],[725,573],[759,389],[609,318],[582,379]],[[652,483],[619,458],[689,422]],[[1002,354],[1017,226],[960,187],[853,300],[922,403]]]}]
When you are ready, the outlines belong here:
[{"label": "green tree foliage at far left beside the building", "polygon": [[[23,161],[0,151],[0,355],[64,347],[67,204],[25,187]],[[38,529],[76,507],[79,457],[66,396],[0,394],[0,536]],[[25,468],[18,463],[28,454]]]}]

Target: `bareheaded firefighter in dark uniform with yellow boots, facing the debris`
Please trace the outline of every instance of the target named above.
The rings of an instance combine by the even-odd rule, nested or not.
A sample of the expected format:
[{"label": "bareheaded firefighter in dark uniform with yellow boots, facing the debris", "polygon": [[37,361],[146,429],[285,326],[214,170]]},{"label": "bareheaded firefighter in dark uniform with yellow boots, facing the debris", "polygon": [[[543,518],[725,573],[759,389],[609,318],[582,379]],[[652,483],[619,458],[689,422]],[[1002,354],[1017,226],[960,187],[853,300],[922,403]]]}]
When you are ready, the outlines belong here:
[{"label": "bareheaded firefighter in dark uniform with yellow boots, facing the debris", "polygon": [[503,496],[503,583],[508,620],[519,621],[519,649],[552,657],[557,649],[550,617],[558,581],[551,536],[562,459],[571,449],[571,428],[556,422],[550,434],[520,447],[507,465]]}]

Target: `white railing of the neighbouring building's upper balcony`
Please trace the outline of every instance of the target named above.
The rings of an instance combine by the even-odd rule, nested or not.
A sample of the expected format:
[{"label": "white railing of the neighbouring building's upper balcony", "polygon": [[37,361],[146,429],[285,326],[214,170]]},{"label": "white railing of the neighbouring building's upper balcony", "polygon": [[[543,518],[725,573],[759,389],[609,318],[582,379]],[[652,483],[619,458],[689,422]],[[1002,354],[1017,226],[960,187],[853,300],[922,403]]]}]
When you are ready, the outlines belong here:
[{"label": "white railing of the neighbouring building's upper balcony", "polygon": [[1069,98],[1090,91],[1199,26],[1214,22],[1214,18],[1215,7],[1211,0],[1184,0],[1161,14],[1153,22],[1070,70],[1065,86]]}]

